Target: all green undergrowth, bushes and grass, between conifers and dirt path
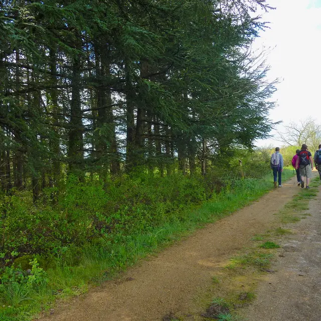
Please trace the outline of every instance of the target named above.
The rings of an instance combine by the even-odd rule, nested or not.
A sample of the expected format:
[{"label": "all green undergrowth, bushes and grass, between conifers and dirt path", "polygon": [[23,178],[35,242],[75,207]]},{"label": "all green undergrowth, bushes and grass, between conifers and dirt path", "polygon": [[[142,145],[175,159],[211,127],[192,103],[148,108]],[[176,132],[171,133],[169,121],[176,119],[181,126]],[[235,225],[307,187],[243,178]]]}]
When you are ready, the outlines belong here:
[{"label": "all green undergrowth, bushes and grass, between conifers and dirt path", "polygon": [[[291,175],[291,171],[285,170],[284,180]],[[150,181],[144,184],[142,178],[132,189],[126,185],[128,182],[124,186],[117,183],[122,186],[120,198],[124,204],[121,205],[115,201],[119,200],[116,186],[110,187],[110,194],[104,194],[103,186],[86,190],[81,183],[71,185],[70,194],[67,188],[61,196],[59,211],[48,203],[48,206],[32,207],[27,197],[23,202],[21,196],[7,198],[7,221],[2,221],[2,228],[7,228],[8,236],[17,230],[21,232],[17,238],[8,238],[7,248],[3,246],[0,254],[3,269],[6,266],[7,274],[36,277],[37,282],[25,286],[19,280],[2,281],[0,319],[30,320],[40,310],[49,309],[56,298],[86,292],[91,284],[112,278],[138,259],[231,214],[272,188],[271,175],[261,180],[226,181],[219,193],[207,190],[205,185],[199,188],[199,179],[187,183],[183,178],[183,182],[178,183],[179,191],[167,186],[169,181],[154,180],[155,189],[161,185],[162,202],[159,202],[161,196],[153,195],[156,190],[150,188]],[[173,199],[175,194],[179,201]],[[159,204],[153,205],[153,202]],[[198,206],[201,202],[203,205]],[[105,217],[102,209],[110,210],[111,204],[117,211]],[[2,206],[4,208],[4,204]],[[32,219],[27,213],[30,207],[34,209]],[[37,265],[41,273],[34,270],[35,258],[37,264],[41,262]],[[264,257],[258,258],[257,264],[264,265]],[[9,299],[8,293],[16,298]]]}]

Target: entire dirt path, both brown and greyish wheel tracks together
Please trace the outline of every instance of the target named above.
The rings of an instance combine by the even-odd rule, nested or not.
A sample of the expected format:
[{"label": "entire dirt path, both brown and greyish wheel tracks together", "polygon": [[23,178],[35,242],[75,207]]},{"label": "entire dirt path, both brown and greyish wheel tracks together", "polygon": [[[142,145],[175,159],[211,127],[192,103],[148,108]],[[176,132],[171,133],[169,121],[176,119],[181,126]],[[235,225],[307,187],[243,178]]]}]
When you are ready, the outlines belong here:
[{"label": "entire dirt path, both brown and greyish wheel tracks together", "polygon": [[[284,208],[305,193],[293,183],[291,179],[233,215],[141,260],[117,279],[61,303],[40,319],[207,320],[211,315],[205,311],[213,297],[237,295],[244,304],[234,304],[233,313],[249,321],[320,320],[321,200],[314,194],[302,207],[305,212],[300,219],[305,219],[289,224]],[[289,232],[280,238],[273,232],[277,229]],[[257,240],[264,238],[280,244],[278,249],[265,250],[274,253],[268,268],[231,267],[233,257],[254,253]],[[251,303],[247,295],[253,297]]]}]

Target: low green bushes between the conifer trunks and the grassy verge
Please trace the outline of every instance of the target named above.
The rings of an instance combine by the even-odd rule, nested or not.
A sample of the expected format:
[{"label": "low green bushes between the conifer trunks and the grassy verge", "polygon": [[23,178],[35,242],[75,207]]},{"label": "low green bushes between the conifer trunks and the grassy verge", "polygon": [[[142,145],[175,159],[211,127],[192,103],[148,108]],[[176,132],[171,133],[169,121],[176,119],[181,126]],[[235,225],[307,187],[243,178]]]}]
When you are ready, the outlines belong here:
[{"label": "low green bushes between the conifer trunks and the grassy verge", "polygon": [[[240,155],[246,180],[239,178]],[[69,176],[59,193],[57,188],[47,188],[36,204],[31,192],[2,195],[0,269],[13,263],[26,268],[33,258],[44,268],[57,263],[78,264],[86,244],[105,246],[117,235],[146,232],[166,222],[184,220],[187,207],[222,193],[230,200],[237,194],[246,197],[257,186],[257,179],[270,172],[269,156],[261,151],[242,151],[240,155],[235,152],[225,166],[212,166],[205,177],[174,170],[159,177],[138,169],[134,174],[104,181],[94,178],[79,182]]]}]

